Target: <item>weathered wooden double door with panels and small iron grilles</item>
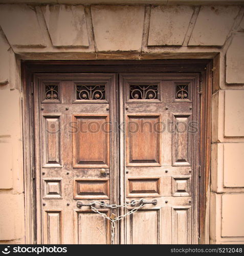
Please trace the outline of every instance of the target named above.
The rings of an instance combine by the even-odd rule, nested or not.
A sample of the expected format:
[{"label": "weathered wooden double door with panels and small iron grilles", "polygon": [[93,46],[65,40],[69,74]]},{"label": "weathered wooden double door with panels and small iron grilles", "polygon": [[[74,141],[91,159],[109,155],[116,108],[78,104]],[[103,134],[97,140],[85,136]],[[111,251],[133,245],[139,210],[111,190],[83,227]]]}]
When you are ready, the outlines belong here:
[{"label": "weathered wooden double door with panels and small iron grilles", "polygon": [[[157,204],[117,222],[115,243],[198,242],[198,82],[197,73],[35,75],[37,243],[110,244],[109,221],[82,204],[141,198]],[[120,216],[134,206],[96,208]]]}]

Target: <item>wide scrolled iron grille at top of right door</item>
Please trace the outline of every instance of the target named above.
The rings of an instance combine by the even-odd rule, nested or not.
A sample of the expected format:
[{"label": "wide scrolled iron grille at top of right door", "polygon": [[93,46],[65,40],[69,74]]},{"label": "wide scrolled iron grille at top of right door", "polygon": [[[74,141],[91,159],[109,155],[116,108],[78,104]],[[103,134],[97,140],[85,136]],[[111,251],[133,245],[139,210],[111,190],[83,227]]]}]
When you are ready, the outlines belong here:
[{"label": "wide scrolled iron grille at top of right door", "polygon": [[130,85],[130,99],[158,99],[158,86]]}]

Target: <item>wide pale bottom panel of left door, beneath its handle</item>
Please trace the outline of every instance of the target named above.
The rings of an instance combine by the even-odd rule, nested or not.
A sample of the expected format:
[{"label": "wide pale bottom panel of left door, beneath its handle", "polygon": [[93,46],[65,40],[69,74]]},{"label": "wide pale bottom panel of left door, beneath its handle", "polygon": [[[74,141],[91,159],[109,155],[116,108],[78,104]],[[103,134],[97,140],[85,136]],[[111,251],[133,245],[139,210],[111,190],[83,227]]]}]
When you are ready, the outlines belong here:
[{"label": "wide pale bottom panel of left door, beneath its handle", "polygon": [[[108,215],[108,210],[99,210]],[[75,210],[76,244],[109,244],[109,221],[91,210]]]}]

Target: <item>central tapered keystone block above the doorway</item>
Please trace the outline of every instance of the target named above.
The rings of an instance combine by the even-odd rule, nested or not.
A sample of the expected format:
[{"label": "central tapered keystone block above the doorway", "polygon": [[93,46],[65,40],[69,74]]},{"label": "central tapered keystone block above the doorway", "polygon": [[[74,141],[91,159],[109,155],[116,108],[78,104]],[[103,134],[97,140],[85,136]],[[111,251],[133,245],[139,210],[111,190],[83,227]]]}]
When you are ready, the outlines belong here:
[{"label": "central tapered keystone block above the doorway", "polygon": [[142,46],[144,6],[91,7],[98,51],[139,51]]}]

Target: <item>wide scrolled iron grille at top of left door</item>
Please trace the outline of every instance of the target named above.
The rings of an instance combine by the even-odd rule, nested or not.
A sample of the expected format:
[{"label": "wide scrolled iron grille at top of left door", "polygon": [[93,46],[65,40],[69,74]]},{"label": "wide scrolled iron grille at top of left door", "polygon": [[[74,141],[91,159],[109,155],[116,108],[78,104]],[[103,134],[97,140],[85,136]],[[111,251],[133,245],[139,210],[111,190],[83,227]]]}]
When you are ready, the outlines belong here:
[{"label": "wide scrolled iron grille at top of left door", "polygon": [[76,86],[76,97],[81,100],[105,99],[105,86]]}]

